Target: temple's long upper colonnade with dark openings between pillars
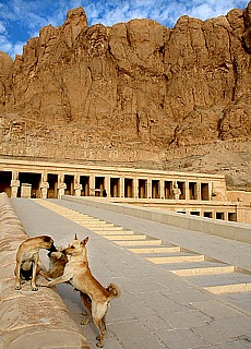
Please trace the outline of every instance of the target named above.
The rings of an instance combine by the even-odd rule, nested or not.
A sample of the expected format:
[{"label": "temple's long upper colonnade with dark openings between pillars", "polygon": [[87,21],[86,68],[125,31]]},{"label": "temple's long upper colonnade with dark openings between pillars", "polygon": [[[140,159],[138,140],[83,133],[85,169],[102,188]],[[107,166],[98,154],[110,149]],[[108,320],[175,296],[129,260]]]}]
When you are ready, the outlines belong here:
[{"label": "temple's long upper colonnade with dark openings between pillars", "polygon": [[[0,171],[0,180],[1,180]],[[156,200],[211,201],[217,193],[214,182],[201,179],[182,179],[180,176],[140,173],[50,173],[43,171],[5,173],[1,190],[11,197],[61,198],[62,195],[107,196]]]}]

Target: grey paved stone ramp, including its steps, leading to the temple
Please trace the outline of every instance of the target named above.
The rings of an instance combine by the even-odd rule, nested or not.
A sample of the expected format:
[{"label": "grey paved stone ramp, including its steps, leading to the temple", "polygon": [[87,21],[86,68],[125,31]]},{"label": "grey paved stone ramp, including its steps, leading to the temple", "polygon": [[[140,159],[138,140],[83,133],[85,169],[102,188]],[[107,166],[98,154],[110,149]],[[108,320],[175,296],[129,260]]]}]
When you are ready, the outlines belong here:
[{"label": "grey paved stone ramp, including its steps, leading to the temple", "polygon": [[[105,348],[251,348],[250,244],[68,201],[11,202],[31,237],[47,233],[58,245],[75,232],[89,237],[93,274],[121,290],[108,312]],[[77,292],[58,290],[79,324]],[[95,348],[93,323],[81,328]]]}]

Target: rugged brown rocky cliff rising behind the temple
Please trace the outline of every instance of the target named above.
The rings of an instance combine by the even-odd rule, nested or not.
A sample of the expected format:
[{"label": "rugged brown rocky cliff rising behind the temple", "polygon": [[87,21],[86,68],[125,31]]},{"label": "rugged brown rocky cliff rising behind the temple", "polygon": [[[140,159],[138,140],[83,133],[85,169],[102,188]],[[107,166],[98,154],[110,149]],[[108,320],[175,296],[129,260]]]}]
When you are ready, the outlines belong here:
[{"label": "rugged brown rocky cliff rising behind the temple", "polygon": [[[227,174],[251,188],[251,2],[174,28],[83,8],[0,52],[0,155]],[[213,154],[213,156],[211,156]]]}]

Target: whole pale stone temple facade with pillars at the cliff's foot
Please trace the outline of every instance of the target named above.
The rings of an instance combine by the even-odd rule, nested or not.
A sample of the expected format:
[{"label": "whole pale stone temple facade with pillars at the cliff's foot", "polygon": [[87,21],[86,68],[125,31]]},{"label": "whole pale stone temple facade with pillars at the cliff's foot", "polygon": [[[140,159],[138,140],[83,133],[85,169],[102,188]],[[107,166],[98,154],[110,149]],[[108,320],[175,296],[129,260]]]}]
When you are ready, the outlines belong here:
[{"label": "whole pale stone temple facade with pillars at the cliff's foot", "polygon": [[224,176],[0,158],[0,192],[10,197],[104,197],[206,218],[251,222],[249,192]]}]

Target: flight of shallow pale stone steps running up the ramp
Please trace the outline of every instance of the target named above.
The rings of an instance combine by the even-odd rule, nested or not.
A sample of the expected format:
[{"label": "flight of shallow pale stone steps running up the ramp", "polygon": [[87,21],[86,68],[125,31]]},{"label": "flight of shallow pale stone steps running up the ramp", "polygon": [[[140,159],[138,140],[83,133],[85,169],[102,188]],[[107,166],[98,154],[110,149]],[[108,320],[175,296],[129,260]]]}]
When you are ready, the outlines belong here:
[{"label": "flight of shallow pale stone steps running up the ramp", "polygon": [[160,239],[127,230],[121,226],[81,214],[49,201],[38,200],[37,202],[212,293],[235,297],[240,292],[246,294],[250,292],[251,299],[251,273],[247,270],[239,270],[223,261],[213,260],[179,245],[164,243]]}]

